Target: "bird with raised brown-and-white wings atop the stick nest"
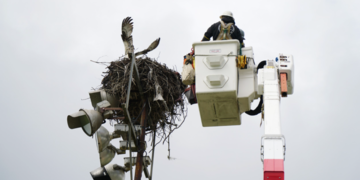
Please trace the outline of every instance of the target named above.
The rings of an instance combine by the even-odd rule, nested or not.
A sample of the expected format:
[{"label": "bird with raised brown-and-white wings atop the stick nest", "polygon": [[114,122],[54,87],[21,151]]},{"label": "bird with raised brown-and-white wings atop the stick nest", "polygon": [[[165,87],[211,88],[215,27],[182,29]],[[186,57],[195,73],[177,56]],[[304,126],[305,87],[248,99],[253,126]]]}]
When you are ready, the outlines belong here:
[{"label": "bird with raised brown-and-white wings atop the stick nest", "polygon": [[[122,33],[121,38],[124,43],[125,47],[125,56],[131,57],[132,53],[134,52],[134,44],[132,39],[132,31],[133,31],[133,22],[131,17],[127,17],[122,22]],[[148,52],[154,50],[160,43],[160,38],[156,39],[154,42],[150,44],[150,46],[147,49],[144,49],[140,52],[135,53],[135,57],[139,55],[145,55]]]}]

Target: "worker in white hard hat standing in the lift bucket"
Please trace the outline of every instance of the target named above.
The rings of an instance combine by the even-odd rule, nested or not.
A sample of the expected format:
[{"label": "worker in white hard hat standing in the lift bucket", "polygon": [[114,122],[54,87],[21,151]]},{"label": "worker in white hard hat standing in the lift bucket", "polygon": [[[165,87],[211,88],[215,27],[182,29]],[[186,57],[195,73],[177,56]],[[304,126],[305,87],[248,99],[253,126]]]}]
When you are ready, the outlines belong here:
[{"label": "worker in white hard hat standing in the lift bucket", "polygon": [[232,12],[225,11],[220,16],[220,19],[219,22],[214,23],[209,27],[201,41],[210,41],[211,37],[213,40],[237,39],[239,40],[241,47],[245,47],[243,42],[245,39],[244,31],[235,25]]}]

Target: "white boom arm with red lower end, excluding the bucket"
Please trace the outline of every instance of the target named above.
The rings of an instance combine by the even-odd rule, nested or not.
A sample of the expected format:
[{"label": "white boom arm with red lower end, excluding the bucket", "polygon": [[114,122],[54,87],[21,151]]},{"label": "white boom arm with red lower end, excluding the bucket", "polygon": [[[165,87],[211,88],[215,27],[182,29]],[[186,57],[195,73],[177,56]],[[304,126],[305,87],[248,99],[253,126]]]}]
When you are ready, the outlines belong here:
[{"label": "white boom arm with red lower end, excluding the bucket", "polygon": [[[267,61],[258,71],[259,92],[263,92],[265,135],[261,138],[261,160],[264,165],[264,179],[284,179],[285,137],[281,133],[280,96],[286,97],[288,89],[292,94],[292,56],[280,55],[281,61]],[[280,76],[279,76],[280,75]],[[288,88],[289,84],[289,88]]]}]

